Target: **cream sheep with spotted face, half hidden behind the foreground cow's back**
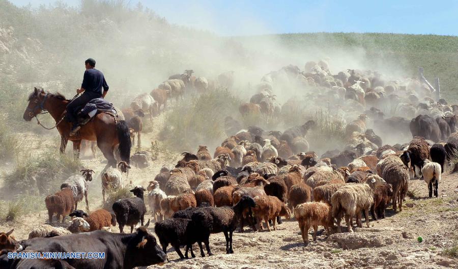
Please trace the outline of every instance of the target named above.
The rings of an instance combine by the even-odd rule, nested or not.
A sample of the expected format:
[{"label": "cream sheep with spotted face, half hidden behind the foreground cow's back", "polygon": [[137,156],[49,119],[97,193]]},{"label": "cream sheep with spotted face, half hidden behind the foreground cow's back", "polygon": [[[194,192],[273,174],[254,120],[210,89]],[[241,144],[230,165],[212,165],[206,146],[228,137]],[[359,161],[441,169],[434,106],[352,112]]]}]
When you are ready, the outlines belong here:
[{"label": "cream sheep with spotted face, half hidden behind the foreground cow's back", "polygon": [[54,227],[48,224],[41,224],[28,234],[28,239],[35,237],[54,237],[76,232],[85,232],[89,231],[91,228],[89,223],[83,218],[73,218],[70,222],[68,222],[68,224],[70,225],[67,229],[63,227]]}]

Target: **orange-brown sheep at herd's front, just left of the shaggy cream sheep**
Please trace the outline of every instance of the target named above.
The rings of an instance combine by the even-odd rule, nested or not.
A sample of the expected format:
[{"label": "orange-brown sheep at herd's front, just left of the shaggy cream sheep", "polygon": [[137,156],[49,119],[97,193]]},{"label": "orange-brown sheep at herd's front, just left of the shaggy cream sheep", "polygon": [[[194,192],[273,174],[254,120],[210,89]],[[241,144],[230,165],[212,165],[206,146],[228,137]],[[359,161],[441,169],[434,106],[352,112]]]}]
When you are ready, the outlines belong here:
[{"label": "orange-brown sheep at herd's front, just left of the shaggy cream sheep", "polygon": [[308,245],[308,230],[313,226],[313,241],[317,240],[318,225],[322,225],[329,235],[329,228],[334,226],[331,206],[322,202],[308,202],[294,208],[294,216],[299,223],[304,244]]}]

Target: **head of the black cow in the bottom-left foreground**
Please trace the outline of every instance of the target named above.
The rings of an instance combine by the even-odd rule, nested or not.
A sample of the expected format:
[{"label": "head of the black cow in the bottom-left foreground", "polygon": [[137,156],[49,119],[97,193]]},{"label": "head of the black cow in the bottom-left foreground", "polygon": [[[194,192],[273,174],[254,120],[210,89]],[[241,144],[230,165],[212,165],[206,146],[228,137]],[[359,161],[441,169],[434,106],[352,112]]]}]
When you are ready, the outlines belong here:
[{"label": "head of the black cow in the bottom-left foreground", "polygon": [[156,237],[147,231],[149,225],[150,220],[145,226],[137,228],[129,240],[125,255],[125,268],[152,264],[162,265],[167,262],[167,255],[157,245]]}]

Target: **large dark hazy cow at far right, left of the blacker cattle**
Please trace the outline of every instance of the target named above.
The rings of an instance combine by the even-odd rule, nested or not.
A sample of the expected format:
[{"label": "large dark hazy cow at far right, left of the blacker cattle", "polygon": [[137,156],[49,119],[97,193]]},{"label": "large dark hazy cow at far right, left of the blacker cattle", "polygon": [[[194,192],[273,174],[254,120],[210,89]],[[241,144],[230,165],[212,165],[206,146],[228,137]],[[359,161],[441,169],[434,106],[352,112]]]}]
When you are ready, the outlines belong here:
[{"label": "large dark hazy cow at far right, left of the blacker cattle", "polygon": [[423,137],[424,139],[439,142],[441,130],[437,122],[428,115],[418,115],[410,122],[412,137]]}]

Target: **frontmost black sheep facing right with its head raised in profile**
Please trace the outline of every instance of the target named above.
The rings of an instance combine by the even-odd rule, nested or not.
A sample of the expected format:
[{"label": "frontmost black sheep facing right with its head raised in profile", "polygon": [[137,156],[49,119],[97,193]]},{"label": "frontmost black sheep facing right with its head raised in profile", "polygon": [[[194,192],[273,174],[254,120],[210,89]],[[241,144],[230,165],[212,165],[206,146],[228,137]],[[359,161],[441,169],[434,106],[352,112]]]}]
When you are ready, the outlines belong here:
[{"label": "frontmost black sheep facing right with its head raised in profile", "polygon": [[237,228],[239,218],[246,208],[255,207],[256,203],[249,196],[242,196],[240,201],[233,207],[204,207],[192,213],[191,220],[195,223],[197,244],[201,249],[202,257],[205,257],[202,242],[207,249],[207,254],[213,255],[210,251],[209,238],[211,233],[223,232],[226,238],[226,254],[234,253],[232,249],[232,233]]}]

